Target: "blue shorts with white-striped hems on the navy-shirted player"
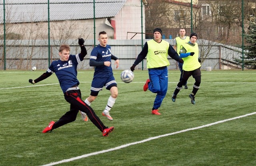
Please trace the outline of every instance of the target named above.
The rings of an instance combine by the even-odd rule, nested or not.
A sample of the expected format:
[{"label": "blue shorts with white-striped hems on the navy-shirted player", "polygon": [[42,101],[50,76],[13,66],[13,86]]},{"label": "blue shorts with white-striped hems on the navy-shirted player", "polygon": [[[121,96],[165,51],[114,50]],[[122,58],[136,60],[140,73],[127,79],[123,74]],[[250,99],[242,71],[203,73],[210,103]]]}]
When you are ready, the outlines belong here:
[{"label": "blue shorts with white-striped hems on the navy-shirted player", "polygon": [[117,86],[113,75],[103,78],[94,77],[92,79],[91,92],[96,92],[98,94],[98,92],[102,90],[104,86],[107,90],[110,90],[110,88],[113,86]]}]

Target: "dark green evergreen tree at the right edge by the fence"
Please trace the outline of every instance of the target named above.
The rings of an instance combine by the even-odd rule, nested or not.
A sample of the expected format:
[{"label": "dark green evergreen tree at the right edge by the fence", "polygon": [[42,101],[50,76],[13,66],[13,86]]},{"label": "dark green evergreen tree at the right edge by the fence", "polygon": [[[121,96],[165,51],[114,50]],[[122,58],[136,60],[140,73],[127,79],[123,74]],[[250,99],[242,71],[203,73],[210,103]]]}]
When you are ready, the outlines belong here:
[{"label": "dark green evergreen tree at the right edge by the fence", "polygon": [[[249,69],[256,69],[256,23],[250,22],[248,34],[244,35],[248,45],[244,46],[244,66]],[[242,63],[241,59],[235,59],[236,62]]]}]

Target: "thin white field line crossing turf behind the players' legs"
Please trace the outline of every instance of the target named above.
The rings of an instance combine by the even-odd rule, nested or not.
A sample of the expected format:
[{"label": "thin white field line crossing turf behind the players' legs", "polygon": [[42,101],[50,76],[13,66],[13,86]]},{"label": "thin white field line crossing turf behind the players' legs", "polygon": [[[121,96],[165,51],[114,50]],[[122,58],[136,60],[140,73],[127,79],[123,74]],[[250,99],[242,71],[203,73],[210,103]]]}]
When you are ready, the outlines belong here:
[{"label": "thin white field line crossing turf behind the players' legs", "polygon": [[[80,82],[80,83],[91,83],[91,82]],[[127,84],[124,82],[117,82],[118,84]],[[145,83],[145,82],[130,82],[130,84],[137,84],[137,83]],[[178,84],[178,82],[168,82],[169,84]],[[188,82],[189,84],[192,82]],[[256,84],[256,82],[201,82],[203,84]],[[32,85],[32,86],[20,86],[20,87],[12,87],[12,88],[0,88],[0,90],[5,89],[17,89],[17,88],[30,88],[30,87],[36,87],[36,86],[48,86],[48,85],[58,85],[59,83],[55,84],[43,84],[43,85]]]}]

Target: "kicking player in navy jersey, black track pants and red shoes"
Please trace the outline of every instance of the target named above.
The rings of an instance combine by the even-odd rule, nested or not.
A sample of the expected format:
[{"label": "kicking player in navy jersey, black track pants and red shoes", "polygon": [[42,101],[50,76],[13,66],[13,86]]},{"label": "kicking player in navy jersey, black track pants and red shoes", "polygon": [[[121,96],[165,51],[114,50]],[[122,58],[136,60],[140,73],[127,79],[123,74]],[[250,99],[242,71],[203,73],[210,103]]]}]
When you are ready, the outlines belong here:
[{"label": "kicking player in navy jersey, black track pants and red shoes", "polygon": [[95,114],[92,107],[90,107],[81,99],[81,91],[78,87],[80,83],[77,79],[77,65],[79,62],[84,60],[87,51],[84,46],[84,39],[78,39],[78,44],[81,47],[81,53],[77,55],[70,55],[69,45],[60,45],[60,59],[58,61],[53,61],[48,70],[35,80],[28,80],[28,82],[31,84],[35,84],[48,78],[55,72],[60,82],[60,87],[64,93],[64,98],[68,103],[70,103],[70,110],[67,111],[62,117],[60,117],[58,121],[51,121],[49,125],[42,131],[42,133],[52,131],[53,129],[75,121],[78,111],[81,110],[88,115],[92,123],[98,127],[98,129],[102,131],[102,135],[106,137],[110,132],[114,130],[114,127],[106,127]]}]

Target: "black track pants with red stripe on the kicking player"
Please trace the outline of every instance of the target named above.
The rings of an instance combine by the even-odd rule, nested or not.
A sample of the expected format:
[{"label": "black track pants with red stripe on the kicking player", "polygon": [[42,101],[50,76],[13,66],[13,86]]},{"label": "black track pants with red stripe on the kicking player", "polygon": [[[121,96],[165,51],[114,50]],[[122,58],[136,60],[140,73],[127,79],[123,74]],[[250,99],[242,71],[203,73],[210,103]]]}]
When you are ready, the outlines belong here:
[{"label": "black track pants with red stripe on the kicking player", "polygon": [[108,128],[106,127],[100,118],[95,114],[92,107],[90,107],[88,104],[86,104],[81,99],[81,91],[78,90],[69,90],[64,93],[65,100],[70,103],[70,111],[66,112],[54,125],[52,126],[52,129],[56,129],[60,126],[63,126],[67,123],[70,123],[72,121],[76,120],[76,116],[78,111],[82,111],[87,114],[90,121],[100,129],[100,131],[103,131],[104,129]]}]

